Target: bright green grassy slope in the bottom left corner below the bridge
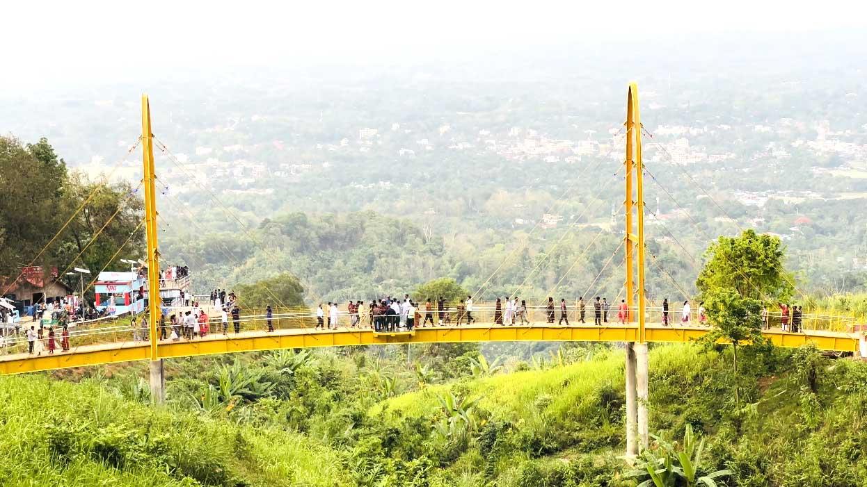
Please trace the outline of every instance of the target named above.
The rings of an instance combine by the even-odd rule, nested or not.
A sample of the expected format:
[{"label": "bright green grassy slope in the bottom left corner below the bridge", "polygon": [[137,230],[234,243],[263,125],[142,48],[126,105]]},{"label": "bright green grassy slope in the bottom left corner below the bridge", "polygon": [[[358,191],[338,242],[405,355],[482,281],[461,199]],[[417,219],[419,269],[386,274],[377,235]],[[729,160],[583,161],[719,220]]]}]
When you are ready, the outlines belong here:
[{"label": "bright green grassy slope in the bottom left corner below the bridge", "polygon": [[[37,375],[0,378],[0,485],[342,485],[302,436],[150,407]],[[114,468],[118,467],[118,468]]]}]

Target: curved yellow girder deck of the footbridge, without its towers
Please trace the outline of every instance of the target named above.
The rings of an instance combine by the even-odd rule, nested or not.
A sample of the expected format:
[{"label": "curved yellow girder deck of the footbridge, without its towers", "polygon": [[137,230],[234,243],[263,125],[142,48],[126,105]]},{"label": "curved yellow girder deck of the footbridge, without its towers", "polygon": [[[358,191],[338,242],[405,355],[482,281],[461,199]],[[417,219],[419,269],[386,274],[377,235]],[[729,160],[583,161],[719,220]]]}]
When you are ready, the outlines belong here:
[{"label": "curved yellow girder deck of the footbridge, without its towers", "polygon": [[[686,343],[709,330],[707,327],[662,326],[648,324],[649,343]],[[791,333],[778,329],[764,331],[765,336],[779,347],[795,348],[814,343],[818,349],[854,352],[858,349],[858,336],[853,333],[806,330]],[[348,345],[381,345],[388,343],[454,343],[454,342],[633,342],[636,324],[605,324],[559,326],[503,326],[499,324],[473,324],[460,327],[434,326],[416,328],[414,335],[374,334],[368,328],[314,330],[296,328],[287,330],[241,331],[238,334],[211,334],[194,340],[160,341],[160,358],[202,356],[271,349],[301,349]],[[147,360],[150,348],[147,342],[113,342],[82,345],[68,352],[55,351],[30,356],[26,353],[0,356],[0,375],[19,374],[38,370],[83,367],[114,362]]]}]

